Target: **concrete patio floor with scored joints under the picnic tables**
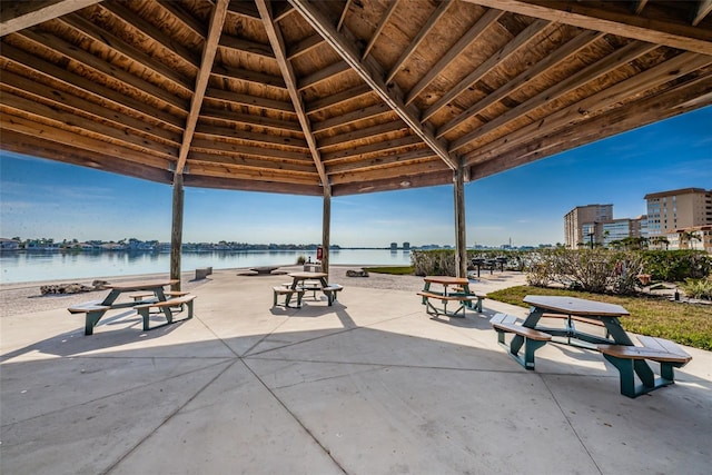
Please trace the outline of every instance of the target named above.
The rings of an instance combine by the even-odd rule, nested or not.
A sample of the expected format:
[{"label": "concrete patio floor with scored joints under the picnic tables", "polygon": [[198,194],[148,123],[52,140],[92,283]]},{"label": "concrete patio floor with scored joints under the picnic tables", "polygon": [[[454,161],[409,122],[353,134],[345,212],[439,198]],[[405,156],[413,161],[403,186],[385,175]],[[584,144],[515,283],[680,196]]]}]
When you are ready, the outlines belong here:
[{"label": "concrete patio floor with scored joints under the picnic tables", "polygon": [[488,318],[523,308],[432,319],[417,289],[346,277],[333,307],[271,308],[284,281],[216,270],[194,319],[147,333],[117,310],[85,336],[61,299],[1,318],[0,472],[710,473],[709,352],[630,399],[594,352],[517,365]]}]

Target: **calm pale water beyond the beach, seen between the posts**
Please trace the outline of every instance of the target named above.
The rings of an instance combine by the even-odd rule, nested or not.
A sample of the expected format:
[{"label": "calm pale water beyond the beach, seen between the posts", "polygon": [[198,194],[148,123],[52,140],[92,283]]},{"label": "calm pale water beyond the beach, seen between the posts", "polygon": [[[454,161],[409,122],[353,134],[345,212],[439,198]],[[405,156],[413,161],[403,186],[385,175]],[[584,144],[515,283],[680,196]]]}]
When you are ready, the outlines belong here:
[{"label": "calm pale water beyond the beach, seen between the posts", "polygon": [[[184,253],[181,268],[197,267],[233,269],[255,266],[291,266],[298,256],[316,260],[316,251],[243,251],[243,253]],[[390,265],[411,264],[409,251],[389,249],[332,250],[332,264]],[[154,253],[2,253],[0,254],[0,284],[31,283],[57,279],[92,279],[97,277],[130,276],[139,274],[168,274],[170,254]]]}]

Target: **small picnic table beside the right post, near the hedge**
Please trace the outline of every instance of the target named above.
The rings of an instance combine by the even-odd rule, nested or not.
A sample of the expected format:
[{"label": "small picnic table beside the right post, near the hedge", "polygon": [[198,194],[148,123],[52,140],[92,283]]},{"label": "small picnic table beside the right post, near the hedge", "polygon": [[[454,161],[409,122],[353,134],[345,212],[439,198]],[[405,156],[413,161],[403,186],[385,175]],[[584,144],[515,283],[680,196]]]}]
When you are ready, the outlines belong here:
[{"label": "small picnic table beside the right post, near the hedge", "polygon": [[[452,276],[426,276],[423,278],[425,285],[423,290],[418,291],[423,298],[423,305],[425,305],[425,311],[428,315],[437,317],[438,315],[446,315],[448,317],[464,317],[465,308],[475,309],[482,313],[482,300],[485,298],[484,294],[477,294],[469,290],[469,280],[464,277]],[[432,288],[432,285],[442,286],[441,290]],[[448,290],[448,287],[453,287]],[[439,301],[442,307],[433,305],[433,301]],[[447,303],[457,303],[457,309],[455,311],[447,309]]]}]

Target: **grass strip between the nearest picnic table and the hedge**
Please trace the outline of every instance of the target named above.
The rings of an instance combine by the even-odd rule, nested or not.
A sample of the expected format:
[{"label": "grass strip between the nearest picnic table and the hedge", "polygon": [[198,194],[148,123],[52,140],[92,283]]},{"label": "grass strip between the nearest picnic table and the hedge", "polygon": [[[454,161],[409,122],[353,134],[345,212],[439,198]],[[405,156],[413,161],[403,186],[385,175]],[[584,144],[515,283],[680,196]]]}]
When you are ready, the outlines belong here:
[{"label": "grass strip between the nearest picnic table and the hedge", "polygon": [[627,331],[668,338],[682,345],[712,350],[712,305],[530,286],[487,293],[487,298],[528,307],[522,301],[526,295],[562,295],[617,304],[631,313],[629,317],[621,317],[621,324]]}]

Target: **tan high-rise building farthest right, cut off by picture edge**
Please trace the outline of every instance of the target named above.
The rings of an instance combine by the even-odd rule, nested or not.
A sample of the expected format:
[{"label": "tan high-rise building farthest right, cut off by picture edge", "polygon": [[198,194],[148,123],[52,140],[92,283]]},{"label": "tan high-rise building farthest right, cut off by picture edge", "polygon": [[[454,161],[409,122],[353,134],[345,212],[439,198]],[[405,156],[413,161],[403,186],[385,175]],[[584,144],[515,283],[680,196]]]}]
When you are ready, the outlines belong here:
[{"label": "tan high-rise building farthest right, cut off by picture edge", "polygon": [[683,188],[645,195],[647,237],[666,236],[669,231],[712,224],[712,190]]}]

